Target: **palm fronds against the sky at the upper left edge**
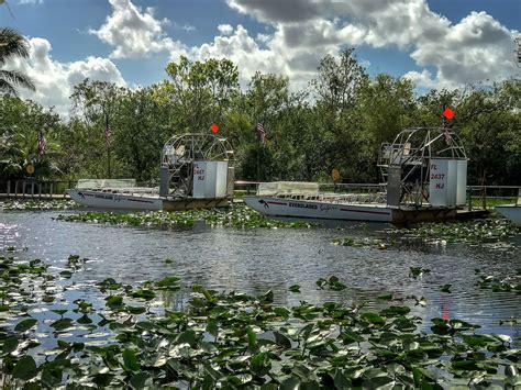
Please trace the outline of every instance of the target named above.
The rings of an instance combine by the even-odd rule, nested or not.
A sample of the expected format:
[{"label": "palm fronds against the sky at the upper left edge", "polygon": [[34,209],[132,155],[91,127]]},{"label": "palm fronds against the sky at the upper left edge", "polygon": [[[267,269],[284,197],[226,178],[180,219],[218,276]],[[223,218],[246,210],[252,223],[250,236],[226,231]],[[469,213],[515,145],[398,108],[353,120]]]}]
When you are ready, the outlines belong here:
[{"label": "palm fronds against the sky at the upper left edge", "polygon": [[18,70],[2,69],[11,57],[29,57],[29,43],[15,30],[9,27],[0,29],[0,94],[16,96],[15,87],[24,87],[34,90],[34,83]]}]

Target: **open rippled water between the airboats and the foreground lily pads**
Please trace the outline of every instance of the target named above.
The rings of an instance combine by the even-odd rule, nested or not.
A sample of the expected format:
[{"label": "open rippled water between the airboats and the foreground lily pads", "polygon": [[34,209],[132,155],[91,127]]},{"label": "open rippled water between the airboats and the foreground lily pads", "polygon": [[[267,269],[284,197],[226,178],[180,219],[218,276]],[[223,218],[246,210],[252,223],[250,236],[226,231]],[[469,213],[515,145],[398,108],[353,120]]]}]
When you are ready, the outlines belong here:
[{"label": "open rippled water between the airboats and the foreground lily pads", "polygon": [[[377,296],[424,297],[426,307],[414,313],[432,317],[465,320],[484,332],[519,336],[520,326],[500,325],[500,320],[521,317],[521,296],[491,292],[475,286],[484,274],[506,277],[521,267],[520,237],[514,248],[500,250],[467,244],[430,245],[380,250],[334,246],[334,238],[379,236],[386,225],[348,224],[339,229],[211,229],[197,223],[189,230],[148,230],[52,220],[58,212],[0,213],[0,254],[9,246],[21,259],[40,258],[55,269],[70,254],[87,257],[87,269],[75,276],[77,294],[88,298],[96,281],[112,277],[125,283],[181,277],[184,285],[201,285],[218,290],[252,294],[271,289],[276,302],[335,300],[346,304],[367,302],[379,307]],[[170,258],[171,264],[165,264]],[[423,278],[408,276],[410,267],[431,269]],[[341,292],[319,290],[319,278],[337,276],[348,288]],[[452,293],[440,292],[452,285]],[[300,285],[301,293],[288,288]]]}]

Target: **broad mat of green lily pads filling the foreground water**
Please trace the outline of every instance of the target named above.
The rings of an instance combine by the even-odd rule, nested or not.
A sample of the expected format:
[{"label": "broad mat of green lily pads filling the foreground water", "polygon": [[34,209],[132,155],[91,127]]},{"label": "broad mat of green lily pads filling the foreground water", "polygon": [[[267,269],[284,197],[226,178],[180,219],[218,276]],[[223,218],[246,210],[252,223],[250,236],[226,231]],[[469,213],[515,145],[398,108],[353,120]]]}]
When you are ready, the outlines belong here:
[{"label": "broad mat of green lily pads filling the foreground water", "polygon": [[[389,305],[380,311],[304,301],[286,308],[274,304],[271,291],[252,297],[193,286],[184,310],[155,310],[158,296],[184,288],[177,277],[166,277],[138,286],[106,279],[96,286],[96,301],[64,305],[64,291],[86,263],[71,256],[52,274],[37,259],[0,258],[4,387],[521,386],[521,350],[510,336],[442,319],[432,320],[430,333],[421,332],[421,319],[392,296],[383,297]],[[343,289],[335,277],[317,285]],[[35,307],[47,307],[52,317],[38,319]]]}]

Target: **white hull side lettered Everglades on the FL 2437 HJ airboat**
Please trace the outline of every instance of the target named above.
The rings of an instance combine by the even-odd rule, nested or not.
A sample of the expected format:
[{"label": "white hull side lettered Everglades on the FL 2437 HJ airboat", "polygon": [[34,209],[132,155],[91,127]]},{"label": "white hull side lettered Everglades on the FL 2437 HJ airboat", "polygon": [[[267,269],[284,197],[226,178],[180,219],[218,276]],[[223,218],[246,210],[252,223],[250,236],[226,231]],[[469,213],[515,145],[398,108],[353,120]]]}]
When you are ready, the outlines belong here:
[{"label": "white hull side lettered Everglades on the FL 2437 HJ airboat", "polygon": [[385,204],[343,204],[271,197],[244,197],[262,214],[311,220],[392,222],[392,209]]}]

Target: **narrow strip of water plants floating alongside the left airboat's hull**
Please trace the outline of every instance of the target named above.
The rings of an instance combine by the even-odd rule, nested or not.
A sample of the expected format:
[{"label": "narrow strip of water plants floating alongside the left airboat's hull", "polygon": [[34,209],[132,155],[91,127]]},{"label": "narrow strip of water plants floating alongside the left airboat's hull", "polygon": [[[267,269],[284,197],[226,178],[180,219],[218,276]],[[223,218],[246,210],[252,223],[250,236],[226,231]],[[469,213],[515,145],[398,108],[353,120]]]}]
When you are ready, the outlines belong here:
[{"label": "narrow strip of water plants floating alongside the left airboat's hull", "polygon": [[93,212],[59,214],[58,221],[89,222],[129,226],[185,227],[196,221],[206,221],[212,226],[226,227],[310,227],[306,222],[287,222],[263,218],[258,212],[243,204],[232,204],[219,209],[190,211],[151,211],[136,213]]}]

